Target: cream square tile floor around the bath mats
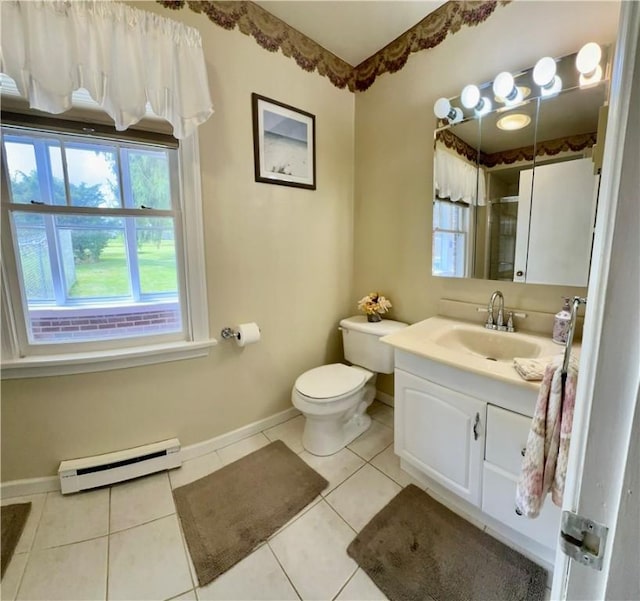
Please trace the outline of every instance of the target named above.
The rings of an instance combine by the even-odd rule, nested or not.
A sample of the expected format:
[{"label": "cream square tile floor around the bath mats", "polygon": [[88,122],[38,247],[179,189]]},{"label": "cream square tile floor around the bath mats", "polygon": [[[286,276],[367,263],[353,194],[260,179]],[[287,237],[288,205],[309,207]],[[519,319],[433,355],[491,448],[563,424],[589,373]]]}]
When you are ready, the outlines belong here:
[{"label": "cream square tile floor around the bath mats", "polygon": [[[393,409],[376,401],[369,411],[371,428],[331,457],[304,451],[304,418],[298,416],[169,473],[65,497],[3,499],[3,505],[33,505],[2,580],[1,598],[386,599],[346,548],[412,479],[393,453]],[[199,587],[171,489],[276,439],[299,453],[329,486],[246,559]]]}]

